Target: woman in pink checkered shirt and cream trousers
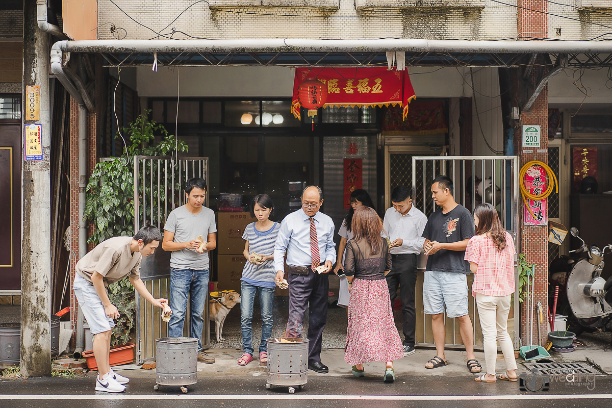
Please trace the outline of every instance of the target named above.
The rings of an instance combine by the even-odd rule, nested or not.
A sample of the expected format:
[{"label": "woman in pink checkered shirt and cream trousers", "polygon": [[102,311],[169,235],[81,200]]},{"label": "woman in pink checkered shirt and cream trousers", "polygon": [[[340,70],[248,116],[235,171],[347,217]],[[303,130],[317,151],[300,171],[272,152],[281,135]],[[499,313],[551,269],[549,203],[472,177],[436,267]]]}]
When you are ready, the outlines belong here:
[{"label": "woman in pink checkered shirt and cream trousers", "polygon": [[514,292],[514,243],[499,221],[491,204],[480,204],[474,210],[476,235],[465,250],[465,260],[474,273],[472,295],[476,298],[482,328],[487,373],[476,377],[478,382],[496,382],[497,341],[506,360],[501,380],[517,380],[517,362],[508,334],[510,295]]}]

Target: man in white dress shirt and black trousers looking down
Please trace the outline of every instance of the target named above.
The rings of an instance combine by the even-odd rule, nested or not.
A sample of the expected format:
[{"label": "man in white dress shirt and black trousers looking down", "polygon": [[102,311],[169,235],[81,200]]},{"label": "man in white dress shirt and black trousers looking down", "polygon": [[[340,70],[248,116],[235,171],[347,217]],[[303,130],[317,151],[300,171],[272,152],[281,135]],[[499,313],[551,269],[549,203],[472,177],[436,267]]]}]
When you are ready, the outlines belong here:
[{"label": "man in white dress shirt and black trousers looking down", "polygon": [[389,248],[393,265],[386,278],[391,305],[397,297],[397,287],[400,286],[401,314],[404,317],[404,356],[408,356],[414,354],[417,256],[425,243],[421,235],[427,225],[427,217],[412,205],[411,192],[403,185],[393,189],[391,203],[393,207],[387,209],[383,221],[391,241]]}]

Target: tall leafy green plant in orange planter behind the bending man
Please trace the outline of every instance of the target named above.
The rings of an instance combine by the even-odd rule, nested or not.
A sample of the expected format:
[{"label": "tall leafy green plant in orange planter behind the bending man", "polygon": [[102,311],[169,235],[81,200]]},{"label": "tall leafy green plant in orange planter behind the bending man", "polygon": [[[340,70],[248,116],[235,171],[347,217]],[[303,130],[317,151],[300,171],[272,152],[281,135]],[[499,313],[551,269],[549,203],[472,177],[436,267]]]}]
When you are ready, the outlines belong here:
[{"label": "tall leafy green plant in orange planter behind the bending man", "polygon": [[[121,157],[100,161],[89,177],[85,216],[95,226],[88,239],[94,245],[110,237],[134,235],[134,156],[166,156],[175,148],[177,152],[186,152],[188,149],[184,142],[176,141],[173,135],[168,135],[162,125],[149,121],[147,117],[150,113],[146,111],[123,128],[123,135],[129,143]],[[155,134],[162,136],[158,143],[154,143]],[[117,133],[116,138],[120,137]],[[157,171],[157,168],[153,171]],[[146,177],[146,173],[141,177]],[[178,191],[180,187],[171,186],[170,191]],[[151,191],[146,191],[147,195],[149,193]],[[157,191],[153,193],[157,198]],[[130,342],[130,336],[136,324],[136,297],[129,278],[110,284],[108,297],[120,314],[111,333],[111,366],[132,362],[135,345]],[[84,352],[83,356],[89,369],[97,368],[92,351]]]}]

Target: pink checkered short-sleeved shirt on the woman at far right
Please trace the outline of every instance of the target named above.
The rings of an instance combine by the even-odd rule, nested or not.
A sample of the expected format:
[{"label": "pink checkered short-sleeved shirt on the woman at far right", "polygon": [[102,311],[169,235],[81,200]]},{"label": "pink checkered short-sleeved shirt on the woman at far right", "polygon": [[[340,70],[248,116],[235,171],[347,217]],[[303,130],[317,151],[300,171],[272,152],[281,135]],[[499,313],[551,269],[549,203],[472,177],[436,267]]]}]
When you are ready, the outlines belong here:
[{"label": "pink checkered short-sleeved shirt on the woman at far right", "polygon": [[478,264],[472,283],[472,295],[477,293],[488,296],[507,296],[514,293],[514,242],[508,232],[507,247],[500,251],[495,248],[493,239],[473,236],[465,250],[465,260]]}]

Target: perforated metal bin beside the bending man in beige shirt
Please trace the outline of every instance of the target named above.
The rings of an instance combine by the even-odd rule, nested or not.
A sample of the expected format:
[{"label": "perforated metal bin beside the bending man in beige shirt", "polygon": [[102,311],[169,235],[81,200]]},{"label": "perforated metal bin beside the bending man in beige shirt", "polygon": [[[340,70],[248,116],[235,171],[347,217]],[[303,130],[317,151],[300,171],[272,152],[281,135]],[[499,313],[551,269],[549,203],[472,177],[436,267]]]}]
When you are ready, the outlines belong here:
[{"label": "perforated metal bin beside the bending man in beige shirt", "polygon": [[198,377],[198,339],[193,337],[164,337],[155,339],[154,390],[160,385],[181,387],[187,393],[187,385],[196,383]]}]

